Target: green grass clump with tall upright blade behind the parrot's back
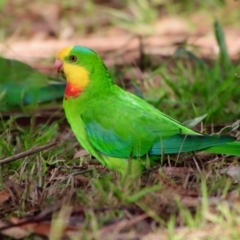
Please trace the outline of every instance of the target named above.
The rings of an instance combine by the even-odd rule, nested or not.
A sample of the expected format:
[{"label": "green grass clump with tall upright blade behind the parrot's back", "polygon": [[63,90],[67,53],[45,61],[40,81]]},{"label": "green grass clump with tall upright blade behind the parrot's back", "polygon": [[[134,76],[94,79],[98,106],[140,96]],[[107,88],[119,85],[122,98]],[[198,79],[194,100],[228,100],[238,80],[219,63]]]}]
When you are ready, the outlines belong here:
[{"label": "green grass clump with tall upright blade behind the parrot's back", "polygon": [[[207,123],[238,119],[240,66],[229,59],[218,22],[215,22],[215,36],[220,50],[218,59],[207,64],[190,52],[189,46],[179,48],[171,59],[156,66],[146,77],[146,100],[181,121],[192,118],[192,114],[198,117],[206,113]],[[155,87],[159,78],[160,87]]]}]

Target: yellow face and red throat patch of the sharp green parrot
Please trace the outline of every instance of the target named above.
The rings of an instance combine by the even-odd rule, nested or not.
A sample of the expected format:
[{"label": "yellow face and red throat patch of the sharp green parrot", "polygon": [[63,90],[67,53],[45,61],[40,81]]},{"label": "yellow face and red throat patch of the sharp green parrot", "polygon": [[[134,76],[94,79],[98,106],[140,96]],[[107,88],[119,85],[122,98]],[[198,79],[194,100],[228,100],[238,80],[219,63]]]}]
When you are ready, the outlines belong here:
[{"label": "yellow face and red throat patch of the sharp green parrot", "polygon": [[89,72],[82,66],[72,64],[68,58],[73,57],[71,50],[73,47],[66,47],[60,50],[56,55],[56,62],[62,65],[58,71],[62,71],[67,78],[67,86],[65,89],[65,99],[71,97],[76,98],[89,84]]}]

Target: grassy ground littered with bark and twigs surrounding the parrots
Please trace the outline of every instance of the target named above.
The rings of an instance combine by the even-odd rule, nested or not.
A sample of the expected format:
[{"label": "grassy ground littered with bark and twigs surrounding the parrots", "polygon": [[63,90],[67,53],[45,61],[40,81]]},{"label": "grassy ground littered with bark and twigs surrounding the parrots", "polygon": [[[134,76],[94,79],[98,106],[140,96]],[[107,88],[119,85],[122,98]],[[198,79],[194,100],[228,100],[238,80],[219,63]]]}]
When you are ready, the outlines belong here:
[{"label": "grassy ground littered with bark and twigs surrounding the parrots", "polygon": [[[59,49],[93,48],[127,91],[198,131],[239,137],[239,1],[0,7],[2,57],[59,78]],[[1,112],[0,136],[2,239],[240,236],[239,157],[164,156],[138,179],[122,178],[79,146],[61,100]]]}]

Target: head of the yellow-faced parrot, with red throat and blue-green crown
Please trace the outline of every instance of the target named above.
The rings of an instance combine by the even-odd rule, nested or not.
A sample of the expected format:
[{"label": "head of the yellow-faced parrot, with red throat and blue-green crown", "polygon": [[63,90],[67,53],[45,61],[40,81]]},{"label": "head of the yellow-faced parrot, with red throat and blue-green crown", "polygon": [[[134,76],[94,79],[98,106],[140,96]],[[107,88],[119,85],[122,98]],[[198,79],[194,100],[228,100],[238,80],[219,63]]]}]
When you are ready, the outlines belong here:
[{"label": "head of the yellow-faced parrot, with red throat and blue-green crown", "polygon": [[98,54],[82,46],[66,47],[60,50],[56,55],[54,68],[67,79],[65,99],[76,98],[89,88],[103,87],[108,75]]}]

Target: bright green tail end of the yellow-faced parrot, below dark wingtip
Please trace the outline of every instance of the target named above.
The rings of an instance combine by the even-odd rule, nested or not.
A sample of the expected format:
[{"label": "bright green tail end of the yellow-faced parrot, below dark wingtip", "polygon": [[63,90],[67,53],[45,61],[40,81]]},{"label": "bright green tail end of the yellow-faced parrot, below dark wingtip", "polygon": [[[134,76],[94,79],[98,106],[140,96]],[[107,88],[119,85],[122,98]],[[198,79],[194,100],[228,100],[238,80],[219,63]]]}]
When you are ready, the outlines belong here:
[{"label": "bright green tail end of the yellow-faced parrot, below dark wingtip", "polygon": [[208,153],[227,154],[240,156],[240,142],[230,142],[203,150]]}]

